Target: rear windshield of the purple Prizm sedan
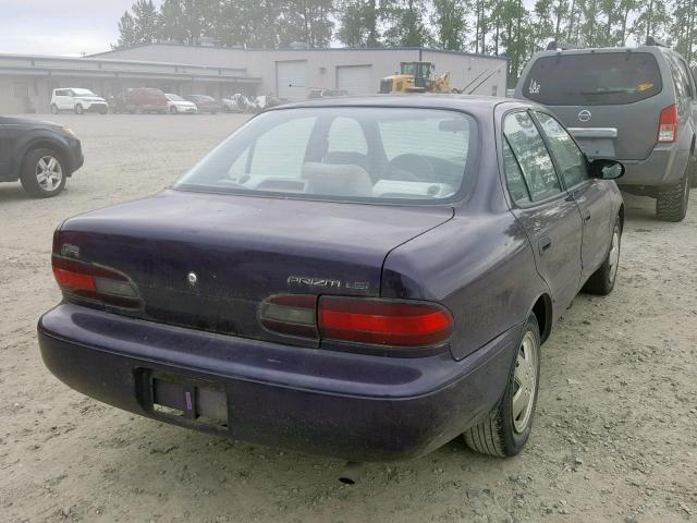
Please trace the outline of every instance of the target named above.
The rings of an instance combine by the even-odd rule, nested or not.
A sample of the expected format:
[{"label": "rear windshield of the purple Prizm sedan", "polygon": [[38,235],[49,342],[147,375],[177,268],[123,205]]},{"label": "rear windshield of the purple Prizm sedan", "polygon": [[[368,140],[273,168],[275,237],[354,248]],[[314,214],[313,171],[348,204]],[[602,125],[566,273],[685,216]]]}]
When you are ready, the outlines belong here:
[{"label": "rear windshield of the purple Prizm sedan", "polygon": [[307,199],[442,203],[472,179],[477,126],[466,114],[409,108],[262,113],[175,188]]}]

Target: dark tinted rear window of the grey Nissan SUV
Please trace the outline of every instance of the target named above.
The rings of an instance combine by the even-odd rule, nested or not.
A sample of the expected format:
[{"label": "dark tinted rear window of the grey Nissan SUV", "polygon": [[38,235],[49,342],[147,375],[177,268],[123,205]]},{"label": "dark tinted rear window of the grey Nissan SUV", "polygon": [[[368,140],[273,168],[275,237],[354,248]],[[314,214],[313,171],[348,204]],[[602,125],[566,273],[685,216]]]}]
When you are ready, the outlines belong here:
[{"label": "dark tinted rear window of the grey Nissan SUV", "polygon": [[649,52],[558,54],[535,61],[523,96],[547,106],[634,104],[658,95],[661,74]]}]

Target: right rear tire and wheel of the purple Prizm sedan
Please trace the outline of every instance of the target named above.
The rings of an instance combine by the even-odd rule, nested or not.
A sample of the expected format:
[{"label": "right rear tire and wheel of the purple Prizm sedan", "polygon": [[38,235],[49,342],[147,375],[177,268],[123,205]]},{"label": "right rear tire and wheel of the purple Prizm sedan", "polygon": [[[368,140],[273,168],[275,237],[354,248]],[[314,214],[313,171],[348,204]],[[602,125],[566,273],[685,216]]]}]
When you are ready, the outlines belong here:
[{"label": "right rear tire and wheel of the purple Prizm sedan", "polygon": [[[515,361],[511,365],[503,397],[487,419],[465,434],[467,446],[482,454],[508,458],[527,442],[533,428],[540,376],[540,328],[534,314],[527,318]],[[514,416],[514,398],[521,394],[524,408]],[[517,406],[519,408],[519,405]]]}]

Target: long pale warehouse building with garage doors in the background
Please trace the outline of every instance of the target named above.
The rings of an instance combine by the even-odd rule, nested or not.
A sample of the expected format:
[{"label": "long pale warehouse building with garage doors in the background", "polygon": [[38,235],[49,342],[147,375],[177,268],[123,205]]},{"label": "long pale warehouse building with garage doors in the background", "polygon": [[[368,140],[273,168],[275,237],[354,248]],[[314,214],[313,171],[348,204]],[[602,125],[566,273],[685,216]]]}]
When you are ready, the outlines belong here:
[{"label": "long pale warehouse building with garage doors in the background", "polygon": [[237,49],[151,44],[85,58],[0,54],[0,112],[47,112],[51,92],[83,87],[109,97],[129,87],[158,87],[216,98],[234,93],[306,99],[313,88],[374,94],[400,62],[428,61],[451,85],[503,96],[506,60],[427,48]]}]

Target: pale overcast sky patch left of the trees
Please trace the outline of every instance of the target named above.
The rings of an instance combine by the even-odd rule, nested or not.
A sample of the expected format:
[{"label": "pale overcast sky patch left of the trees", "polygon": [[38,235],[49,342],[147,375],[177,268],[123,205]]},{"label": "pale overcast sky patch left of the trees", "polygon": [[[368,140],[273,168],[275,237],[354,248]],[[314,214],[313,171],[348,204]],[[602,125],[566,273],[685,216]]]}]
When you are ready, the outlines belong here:
[{"label": "pale overcast sky patch left of the trees", "polygon": [[119,36],[119,19],[133,1],[0,0],[0,53],[107,51]]}]

